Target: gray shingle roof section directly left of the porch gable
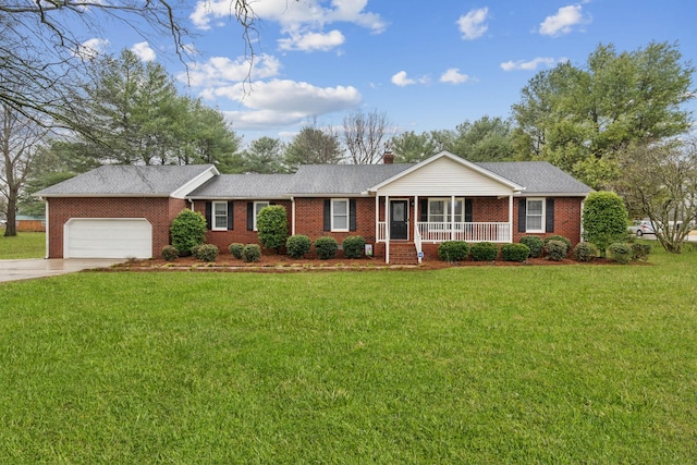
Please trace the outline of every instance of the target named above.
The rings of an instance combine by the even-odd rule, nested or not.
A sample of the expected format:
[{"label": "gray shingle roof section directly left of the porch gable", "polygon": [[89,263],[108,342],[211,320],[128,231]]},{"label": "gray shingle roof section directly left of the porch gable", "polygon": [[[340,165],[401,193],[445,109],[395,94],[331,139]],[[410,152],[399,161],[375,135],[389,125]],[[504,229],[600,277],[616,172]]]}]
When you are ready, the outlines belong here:
[{"label": "gray shingle roof section directly left of the porch gable", "polygon": [[394,164],[304,164],[295,173],[292,195],[359,195],[411,168]]}]

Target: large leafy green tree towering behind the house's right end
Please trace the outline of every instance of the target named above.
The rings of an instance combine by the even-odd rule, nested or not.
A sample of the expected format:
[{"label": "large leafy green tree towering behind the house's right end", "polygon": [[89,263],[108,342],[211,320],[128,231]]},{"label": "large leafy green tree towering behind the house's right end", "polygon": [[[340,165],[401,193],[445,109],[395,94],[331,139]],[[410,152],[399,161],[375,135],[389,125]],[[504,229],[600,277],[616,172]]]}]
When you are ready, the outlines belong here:
[{"label": "large leafy green tree towering behind the house's right end", "polygon": [[619,175],[620,150],[689,127],[682,106],[694,98],[694,71],[677,45],[651,42],[622,53],[600,45],[583,66],[540,72],[513,106],[516,157],[549,160],[606,187]]}]

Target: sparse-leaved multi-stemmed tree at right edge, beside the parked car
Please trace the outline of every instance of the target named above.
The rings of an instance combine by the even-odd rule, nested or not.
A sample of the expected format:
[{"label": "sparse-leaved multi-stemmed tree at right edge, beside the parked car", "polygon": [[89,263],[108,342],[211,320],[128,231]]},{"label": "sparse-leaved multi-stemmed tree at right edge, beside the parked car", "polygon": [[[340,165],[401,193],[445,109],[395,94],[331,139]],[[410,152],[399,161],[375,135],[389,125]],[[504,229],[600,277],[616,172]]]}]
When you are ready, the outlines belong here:
[{"label": "sparse-leaved multi-stemmed tree at right edge, beside the parked car", "polygon": [[680,253],[697,222],[697,139],[632,145],[620,156],[616,182],[629,210],[657,225],[656,238]]}]

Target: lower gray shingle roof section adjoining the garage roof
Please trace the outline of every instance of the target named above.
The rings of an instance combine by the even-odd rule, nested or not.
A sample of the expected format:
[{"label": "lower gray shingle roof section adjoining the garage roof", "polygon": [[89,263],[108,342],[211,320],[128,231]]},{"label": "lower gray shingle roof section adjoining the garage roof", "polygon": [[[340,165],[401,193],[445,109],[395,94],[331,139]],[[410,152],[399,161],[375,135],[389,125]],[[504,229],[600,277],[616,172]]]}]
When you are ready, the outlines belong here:
[{"label": "lower gray shingle roof section adjoining the garage roof", "polygon": [[192,198],[281,198],[288,196],[293,174],[221,174],[192,192]]}]

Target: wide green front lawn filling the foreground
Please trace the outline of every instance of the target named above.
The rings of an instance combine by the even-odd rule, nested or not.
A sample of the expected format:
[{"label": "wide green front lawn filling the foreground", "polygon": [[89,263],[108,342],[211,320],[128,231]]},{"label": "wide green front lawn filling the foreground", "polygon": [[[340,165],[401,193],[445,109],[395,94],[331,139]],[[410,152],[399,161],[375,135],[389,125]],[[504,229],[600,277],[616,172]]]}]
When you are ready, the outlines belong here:
[{"label": "wide green front lawn filling the foreground", "polygon": [[0,285],[1,463],[694,463],[697,253]]}]

